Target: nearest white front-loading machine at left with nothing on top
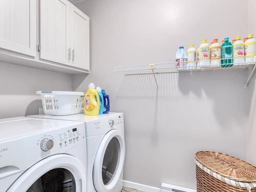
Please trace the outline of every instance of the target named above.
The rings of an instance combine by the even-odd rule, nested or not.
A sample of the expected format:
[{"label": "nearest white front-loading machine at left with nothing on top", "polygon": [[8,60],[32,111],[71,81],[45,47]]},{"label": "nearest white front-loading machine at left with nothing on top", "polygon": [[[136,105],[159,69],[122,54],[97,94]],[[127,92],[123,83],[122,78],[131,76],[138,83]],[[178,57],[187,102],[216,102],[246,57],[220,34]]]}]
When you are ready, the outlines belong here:
[{"label": "nearest white front-loading machine at left with nothing on top", "polygon": [[84,123],[0,120],[0,191],[86,191]]}]

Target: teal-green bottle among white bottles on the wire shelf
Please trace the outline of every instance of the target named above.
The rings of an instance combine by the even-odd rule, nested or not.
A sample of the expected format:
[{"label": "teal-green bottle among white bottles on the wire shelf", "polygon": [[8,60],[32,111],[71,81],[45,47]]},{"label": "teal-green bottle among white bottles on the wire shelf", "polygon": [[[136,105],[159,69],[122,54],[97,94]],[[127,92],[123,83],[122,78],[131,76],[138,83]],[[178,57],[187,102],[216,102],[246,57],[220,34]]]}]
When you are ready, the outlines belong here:
[{"label": "teal-green bottle among white bottles on the wire shelf", "polygon": [[228,68],[233,66],[233,45],[229,42],[229,38],[224,38],[224,43],[221,46],[221,67]]}]

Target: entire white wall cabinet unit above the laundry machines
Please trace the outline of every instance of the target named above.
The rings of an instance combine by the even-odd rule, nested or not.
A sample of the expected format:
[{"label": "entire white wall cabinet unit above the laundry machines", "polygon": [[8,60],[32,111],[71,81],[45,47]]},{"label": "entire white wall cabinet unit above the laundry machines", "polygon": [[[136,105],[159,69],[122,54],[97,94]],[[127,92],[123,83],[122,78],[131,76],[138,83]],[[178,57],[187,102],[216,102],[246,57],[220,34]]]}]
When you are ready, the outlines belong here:
[{"label": "entire white wall cabinet unit above the laundry machines", "polygon": [[89,73],[89,25],[68,0],[0,0],[0,61]]}]

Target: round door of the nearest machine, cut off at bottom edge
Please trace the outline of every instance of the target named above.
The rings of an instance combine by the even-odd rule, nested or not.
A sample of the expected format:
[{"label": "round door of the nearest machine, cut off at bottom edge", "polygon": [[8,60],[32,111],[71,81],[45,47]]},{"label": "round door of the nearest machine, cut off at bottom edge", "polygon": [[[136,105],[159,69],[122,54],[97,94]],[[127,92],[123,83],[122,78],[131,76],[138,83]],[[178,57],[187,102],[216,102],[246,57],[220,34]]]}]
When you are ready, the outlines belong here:
[{"label": "round door of the nearest machine, cut off at bottom edge", "polygon": [[86,191],[86,169],[71,155],[53,155],[27,169],[7,190],[13,191]]}]

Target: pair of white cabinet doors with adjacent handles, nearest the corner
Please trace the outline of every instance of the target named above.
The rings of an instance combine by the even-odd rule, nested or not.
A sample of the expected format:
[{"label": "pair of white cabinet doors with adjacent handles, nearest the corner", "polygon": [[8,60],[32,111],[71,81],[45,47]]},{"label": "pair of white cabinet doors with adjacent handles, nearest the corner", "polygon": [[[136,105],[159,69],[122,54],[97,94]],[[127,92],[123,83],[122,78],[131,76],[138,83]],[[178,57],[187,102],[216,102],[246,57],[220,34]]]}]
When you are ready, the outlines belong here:
[{"label": "pair of white cabinet doors with adjacent handles, nearest the corner", "polygon": [[67,0],[40,1],[40,59],[90,68],[89,17]]}]

